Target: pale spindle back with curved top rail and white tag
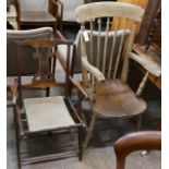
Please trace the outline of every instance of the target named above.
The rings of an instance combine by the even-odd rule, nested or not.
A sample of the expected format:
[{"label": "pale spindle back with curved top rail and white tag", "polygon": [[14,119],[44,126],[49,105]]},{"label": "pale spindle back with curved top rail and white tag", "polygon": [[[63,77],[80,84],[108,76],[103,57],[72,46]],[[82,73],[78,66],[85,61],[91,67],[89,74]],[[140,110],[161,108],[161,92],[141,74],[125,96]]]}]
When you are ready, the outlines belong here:
[{"label": "pale spindle back with curved top rail and white tag", "polygon": [[[77,21],[81,23],[81,56],[92,65],[96,67],[106,79],[116,79],[119,73],[120,62],[123,59],[122,77],[128,74],[128,56],[132,49],[135,28],[144,14],[140,7],[121,2],[96,2],[81,5],[75,10]],[[123,28],[118,29],[119,19],[124,19]],[[133,29],[126,43],[129,29],[128,22],[133,20]],[[114,31],[111,23],[114,21]],[[86,29],[88,23],[89,31]],[[87,71],[83,65],[85,85]]]}]

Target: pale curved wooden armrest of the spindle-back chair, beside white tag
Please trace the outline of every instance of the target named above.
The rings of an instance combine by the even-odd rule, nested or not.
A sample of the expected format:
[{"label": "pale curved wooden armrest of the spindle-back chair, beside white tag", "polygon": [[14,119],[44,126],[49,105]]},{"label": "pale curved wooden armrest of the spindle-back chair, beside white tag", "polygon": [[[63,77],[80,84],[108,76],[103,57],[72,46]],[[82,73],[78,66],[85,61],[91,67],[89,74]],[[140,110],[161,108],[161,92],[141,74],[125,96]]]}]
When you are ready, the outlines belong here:
[{"label": "pale curved wooden armrest of the spindle-back chair, beside white tag", "polygon": [[104,74],[87,61],[87,57],[82,57],[82,65],[96,77],[98,82],[105,81]]}]

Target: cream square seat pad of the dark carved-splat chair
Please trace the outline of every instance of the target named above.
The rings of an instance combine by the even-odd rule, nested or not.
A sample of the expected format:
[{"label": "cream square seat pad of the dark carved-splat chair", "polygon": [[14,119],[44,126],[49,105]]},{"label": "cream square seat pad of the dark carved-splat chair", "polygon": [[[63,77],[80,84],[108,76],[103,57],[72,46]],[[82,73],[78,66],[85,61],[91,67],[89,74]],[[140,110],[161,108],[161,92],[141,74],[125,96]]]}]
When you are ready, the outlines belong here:
[{"label": "cream square seat pad of the dark carved-splat chair", "polygon": [[74,125],[62,96],[24,99],[29,131]]}]

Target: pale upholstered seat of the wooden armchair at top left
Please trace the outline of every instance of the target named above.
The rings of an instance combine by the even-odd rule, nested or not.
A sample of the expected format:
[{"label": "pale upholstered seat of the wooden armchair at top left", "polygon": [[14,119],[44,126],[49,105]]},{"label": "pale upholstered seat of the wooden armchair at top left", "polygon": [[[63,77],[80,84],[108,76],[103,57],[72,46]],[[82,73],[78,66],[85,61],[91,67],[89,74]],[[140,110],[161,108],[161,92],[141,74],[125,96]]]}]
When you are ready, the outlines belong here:
[{"label": "pale upholstered seat of the wooden armchair at top left", "polygon": [[49,12],[22,11],[21,22],[56,22],[56,17]]}]

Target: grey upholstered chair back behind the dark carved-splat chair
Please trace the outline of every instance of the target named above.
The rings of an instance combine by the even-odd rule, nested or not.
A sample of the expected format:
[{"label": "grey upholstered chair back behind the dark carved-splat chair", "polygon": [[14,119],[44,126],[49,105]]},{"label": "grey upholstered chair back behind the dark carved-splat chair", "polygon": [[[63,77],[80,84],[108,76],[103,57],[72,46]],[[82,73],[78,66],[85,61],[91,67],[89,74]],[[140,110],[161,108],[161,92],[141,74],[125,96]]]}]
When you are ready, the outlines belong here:
[{"label": "grey upholstered chair back behind the dark carved-splat chair", "polygon": [[[43,27],[32,31],[8,31],[7,32],[7,75],[17,75],[17,43],[27,39],[52,38],[52,28]],[[37,60],[34,59],[33,53],[35,49],[32,47],[24,47],[24,58],[22,59],[23,69],[22,74],[34,74],[37,71]]]}]

